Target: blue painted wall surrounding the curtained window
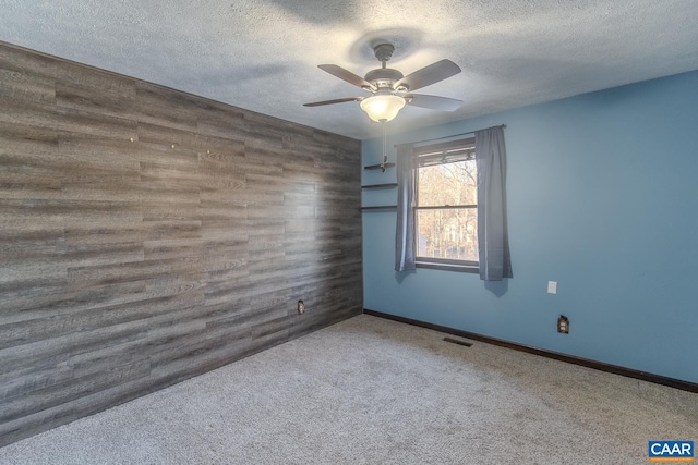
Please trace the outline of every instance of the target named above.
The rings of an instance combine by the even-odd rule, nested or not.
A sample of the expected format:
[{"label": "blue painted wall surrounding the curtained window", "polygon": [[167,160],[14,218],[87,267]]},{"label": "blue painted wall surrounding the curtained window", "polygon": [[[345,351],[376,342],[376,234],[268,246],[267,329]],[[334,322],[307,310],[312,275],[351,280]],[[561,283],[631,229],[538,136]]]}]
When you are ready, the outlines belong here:
[{"label": "blue painted wall surrounding the curtained window", "polygon": [[[389,135],[388,159],[396,143],[496,124],[514,278],[396,273],[395,211],[365,211],[364,307],[698,382],[698,72]],[[365,140],[363,163],[381,150]],[[394,169],[364,170],[364,185],[385,182]],[[364,206],[395,201],[363,192]]]}]

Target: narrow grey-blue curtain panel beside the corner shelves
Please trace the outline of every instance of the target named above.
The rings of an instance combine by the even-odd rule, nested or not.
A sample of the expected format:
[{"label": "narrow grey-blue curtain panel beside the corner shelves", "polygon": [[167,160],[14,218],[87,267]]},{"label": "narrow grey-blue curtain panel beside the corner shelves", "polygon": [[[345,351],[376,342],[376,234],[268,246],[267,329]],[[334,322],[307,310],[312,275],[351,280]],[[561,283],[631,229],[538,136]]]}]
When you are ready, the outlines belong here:
[{"label": "narrow grey-blue curtain panel beside the corner shelves", "polygon": [[395,271],[414,267],[414,148],[397,146],[397,229],[395,232]]}]

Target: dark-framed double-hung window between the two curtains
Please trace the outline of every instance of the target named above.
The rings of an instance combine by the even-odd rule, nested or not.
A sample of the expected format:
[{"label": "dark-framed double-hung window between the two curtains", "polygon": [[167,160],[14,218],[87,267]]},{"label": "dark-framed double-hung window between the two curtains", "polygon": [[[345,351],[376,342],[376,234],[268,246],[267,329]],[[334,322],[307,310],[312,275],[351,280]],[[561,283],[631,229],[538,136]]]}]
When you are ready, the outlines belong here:
[{"label": "dark-framed double-hung window between the two curtains", "polygon": [[474,138],[416,147],[414,171],[417,266],[478,272]]}]

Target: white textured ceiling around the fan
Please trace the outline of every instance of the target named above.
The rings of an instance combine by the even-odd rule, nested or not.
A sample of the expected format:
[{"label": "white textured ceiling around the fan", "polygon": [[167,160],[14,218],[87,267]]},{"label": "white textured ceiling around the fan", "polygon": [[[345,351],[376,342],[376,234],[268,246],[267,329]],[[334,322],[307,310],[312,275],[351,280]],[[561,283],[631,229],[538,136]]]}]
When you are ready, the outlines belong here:
[{"label": "white textured ceiling around the fan", "polygon": [[432,125],[698,69],[696,0],[0,0],[0,40],[356,138],[380,134],[366,95],[316,68],[364,75],[393,41],[409,74],[448,58],[462,73],[418,90],[464,100],[405,108]]}]

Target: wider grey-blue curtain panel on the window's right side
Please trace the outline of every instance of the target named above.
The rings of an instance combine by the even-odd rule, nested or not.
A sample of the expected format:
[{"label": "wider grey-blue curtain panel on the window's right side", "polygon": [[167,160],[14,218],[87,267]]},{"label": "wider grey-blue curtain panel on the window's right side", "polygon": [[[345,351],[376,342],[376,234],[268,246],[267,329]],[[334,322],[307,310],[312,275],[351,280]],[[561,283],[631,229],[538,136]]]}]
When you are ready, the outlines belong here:
[{"label": "wider grey-blue curtain panel on the window's right side", "polygon": [[480,279],[512,278],[506,225],[506,149],[502,126],[476,131]]}]

